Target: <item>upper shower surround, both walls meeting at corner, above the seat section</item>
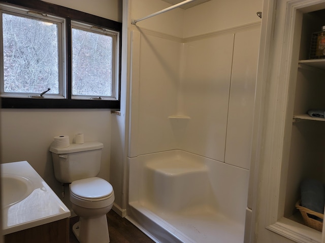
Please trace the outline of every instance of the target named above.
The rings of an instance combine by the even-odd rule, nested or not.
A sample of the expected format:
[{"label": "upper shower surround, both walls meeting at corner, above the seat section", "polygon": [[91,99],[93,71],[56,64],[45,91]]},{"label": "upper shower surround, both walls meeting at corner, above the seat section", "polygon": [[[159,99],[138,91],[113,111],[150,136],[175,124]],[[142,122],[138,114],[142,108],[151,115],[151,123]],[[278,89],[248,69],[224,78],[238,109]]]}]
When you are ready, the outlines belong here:
[{"label": "upper shower surround, both walls meeting at corner, above the seat section", "polygon": [[249,169],[258,34],[134,31],[129,156],[182,149]]}]

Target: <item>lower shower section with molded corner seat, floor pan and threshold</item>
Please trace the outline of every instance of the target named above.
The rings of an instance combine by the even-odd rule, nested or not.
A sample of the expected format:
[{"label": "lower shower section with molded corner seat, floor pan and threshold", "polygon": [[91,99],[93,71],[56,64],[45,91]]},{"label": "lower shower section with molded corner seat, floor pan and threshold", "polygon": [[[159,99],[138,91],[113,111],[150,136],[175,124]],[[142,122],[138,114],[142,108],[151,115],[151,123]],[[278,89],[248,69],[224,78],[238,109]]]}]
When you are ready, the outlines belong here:
[{"label": "lower shower section with molded corner seat, floor pan and threshold", "polygon": [[156,242],[244,241],[249,171],[182,150],[128,166],[127,219]]}]

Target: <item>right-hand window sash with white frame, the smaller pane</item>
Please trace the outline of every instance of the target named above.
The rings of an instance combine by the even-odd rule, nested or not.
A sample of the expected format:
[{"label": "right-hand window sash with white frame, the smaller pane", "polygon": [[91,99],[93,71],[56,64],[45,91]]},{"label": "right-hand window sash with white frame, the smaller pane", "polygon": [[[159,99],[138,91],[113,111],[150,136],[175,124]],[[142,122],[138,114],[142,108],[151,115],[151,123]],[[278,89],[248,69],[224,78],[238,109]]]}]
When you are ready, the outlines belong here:
[{"label": "right-hand window sash with white frame, the smaller pane", "polygon": [[77,22],[71,26],[72,96],[114,97],[114,32]]}]

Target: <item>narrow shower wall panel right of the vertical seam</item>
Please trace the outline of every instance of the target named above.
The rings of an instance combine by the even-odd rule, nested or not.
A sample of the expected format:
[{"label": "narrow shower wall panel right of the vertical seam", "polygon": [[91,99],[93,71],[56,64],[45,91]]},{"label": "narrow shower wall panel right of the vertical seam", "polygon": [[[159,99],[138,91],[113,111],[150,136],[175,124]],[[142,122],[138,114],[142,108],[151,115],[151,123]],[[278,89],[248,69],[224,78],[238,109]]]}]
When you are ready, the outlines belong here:
[{"label": "narrow shower wall panel right of the vertical seam", "polygon": [[235,34],[225,163],[249,170],[259,26]]}]

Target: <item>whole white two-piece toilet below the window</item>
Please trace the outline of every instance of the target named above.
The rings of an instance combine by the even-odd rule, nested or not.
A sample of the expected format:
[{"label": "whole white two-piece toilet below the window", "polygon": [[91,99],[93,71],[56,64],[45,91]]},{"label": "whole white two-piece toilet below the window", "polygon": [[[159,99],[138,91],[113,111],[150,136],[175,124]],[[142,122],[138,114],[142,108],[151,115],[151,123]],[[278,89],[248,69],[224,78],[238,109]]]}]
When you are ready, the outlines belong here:
[{"label": "whole white two-piece toilet below the window", "polygon": [[73,233],[80,243],[110,242],[106,214],[114,203],[112,185],[96,177],[101,169],[103,144],[85,142],[69,147],[51,146],[55,178],[70,184],[70,201],[79,216]]}]

